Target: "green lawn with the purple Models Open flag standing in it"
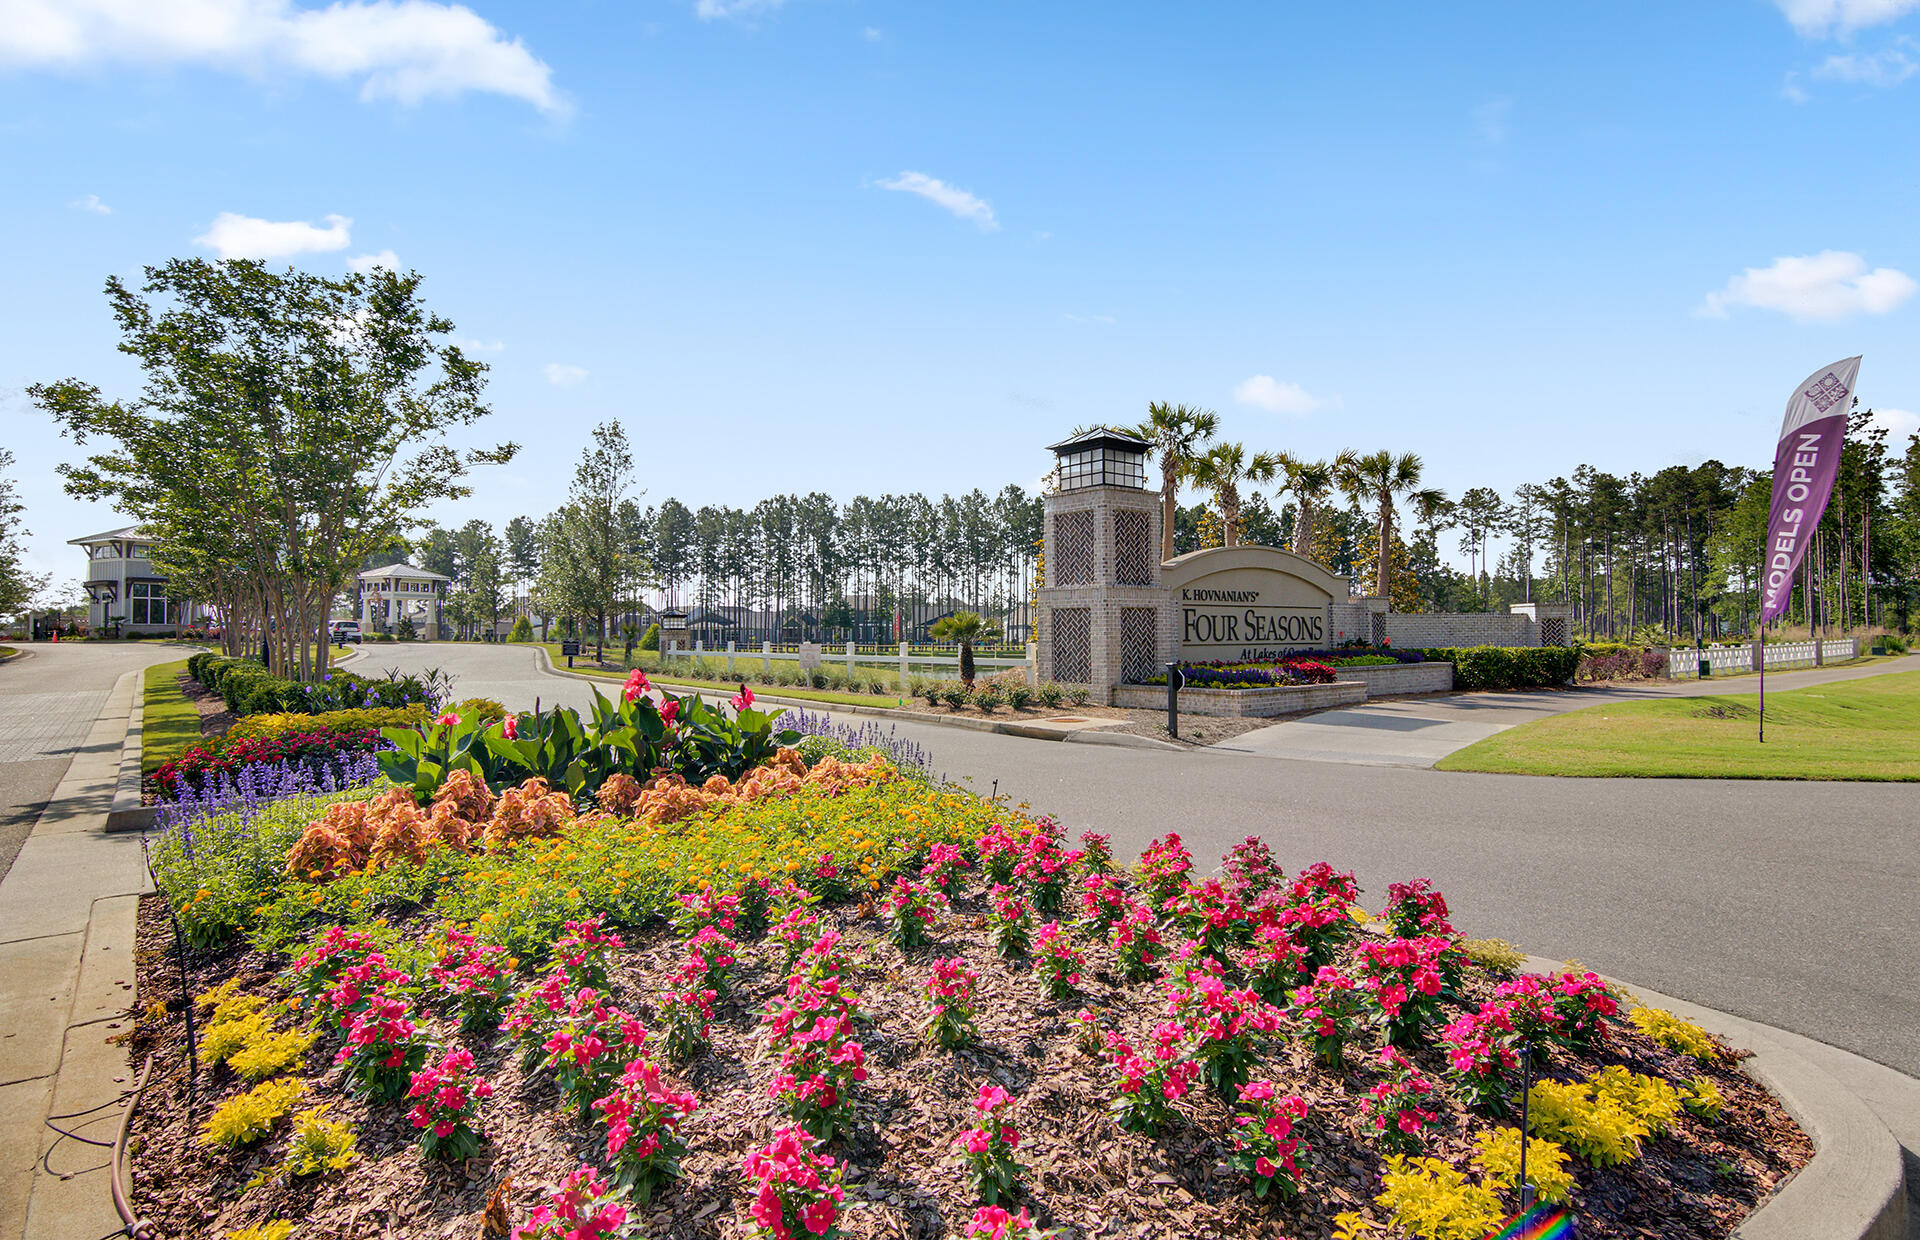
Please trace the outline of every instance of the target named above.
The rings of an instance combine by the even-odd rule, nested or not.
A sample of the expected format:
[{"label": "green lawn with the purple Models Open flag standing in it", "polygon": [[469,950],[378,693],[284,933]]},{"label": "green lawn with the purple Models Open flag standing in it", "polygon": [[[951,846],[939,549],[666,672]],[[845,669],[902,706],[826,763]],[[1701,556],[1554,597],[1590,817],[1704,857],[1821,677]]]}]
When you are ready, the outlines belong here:
[{"label": "green lawn with the purple Models Open flag standing in it", "polygon": [[1511,775],[1920,779],[1920,672],[1766,695],[1590,706],[1523,724],[1440,760]]}]

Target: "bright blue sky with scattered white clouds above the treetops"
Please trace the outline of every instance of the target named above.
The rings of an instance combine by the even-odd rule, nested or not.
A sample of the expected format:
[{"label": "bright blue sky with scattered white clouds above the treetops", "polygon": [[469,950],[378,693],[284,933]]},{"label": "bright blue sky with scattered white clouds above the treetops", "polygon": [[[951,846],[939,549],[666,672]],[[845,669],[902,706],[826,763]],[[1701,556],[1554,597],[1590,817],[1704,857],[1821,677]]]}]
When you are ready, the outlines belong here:
[{"label": "bright blue sky with scattered white clouds above the treetops", "polygon": [[132,395],[109,273],[396,255],[545,513],[1033,484],[1152,399],[1459,493],[1764,465],[1864,353],[1920,418],[1920,0],[0,0],[0,428],[31,562],[115,522],[21,388]]}]

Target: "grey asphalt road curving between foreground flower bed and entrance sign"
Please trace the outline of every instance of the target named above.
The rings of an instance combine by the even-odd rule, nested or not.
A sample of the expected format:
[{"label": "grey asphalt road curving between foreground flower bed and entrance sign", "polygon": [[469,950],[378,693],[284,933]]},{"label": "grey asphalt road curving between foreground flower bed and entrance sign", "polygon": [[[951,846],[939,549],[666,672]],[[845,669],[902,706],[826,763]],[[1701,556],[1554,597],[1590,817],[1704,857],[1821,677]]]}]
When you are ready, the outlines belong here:
[{"label": "grey asphalt road curving between foreground flower bed and entrance sign", "polygon": [[[541,674],[524,647],[378,647],[365,666],[432,664],[457,678],[461,697],[515,708],[536,693],[547,703],[588,697],[586,683]],[[1878,670],[1780,674],[1768,687]],[[1674,691],[1753,687],[1738,678]],[[1571,708],[1644,695],[1546,697]],[[1492,701],[1428,699],[1425,708],[1486,710]],[[1283,727],[1290,724],[1240,743],[1258,749],[1248,737]],[[983,793],[996,783],[1073,833],[1112,833],[1121,856],[1179,831],[1210,866],[1261,835],[1288,870],[1323,858],[1352,868],[1371,902],[1390,881],[1425,875],[1469,935],[1578,958],[1920,1075],[1914,785],[1544,779],[1062,745],[937,724],[899,724],[899,733],[924,745],[937,772]]]}]

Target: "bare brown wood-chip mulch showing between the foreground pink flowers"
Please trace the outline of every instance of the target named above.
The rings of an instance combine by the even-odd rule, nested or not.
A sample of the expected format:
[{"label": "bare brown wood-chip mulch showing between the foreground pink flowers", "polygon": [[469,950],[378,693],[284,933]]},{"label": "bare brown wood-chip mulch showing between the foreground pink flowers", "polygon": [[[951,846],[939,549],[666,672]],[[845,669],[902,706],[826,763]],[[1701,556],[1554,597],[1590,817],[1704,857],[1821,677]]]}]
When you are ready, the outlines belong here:
[{"label": "bare brown wood-chip mulch showing between the foreground pink flowers", "polygon": [[[1183,1123],[1148,1138],[1127,1133],[1108,1113],[1112,1098],[1104,1063],[1075,1040],[1071,1015],[1083,1002],[1102,1010],[1137,1038],[1160,1017],[1158,990],[1129,987],[1100,946],[1089,948],[1083,1000],[1056,1004],[1025,960],[998,958],[985,939],[977,898],[956,900],[931,950],[902,954],[881,937],[877,918],[860,908],[824,912],[824,921],[862,944],[852,983],[862,1008],[876,1017],[862,1027],[870,1079],[856,1086],[858,1125],[833,1154],[849,1163],[847,1209],[841,1227],[852,1238],[958,1236],[975,1205],[954,1157],[954,1138],[970,1123],[979,1085],[995,1081],[1020,1096],[1023,1133],[1021,1202],[1068,1240],[1087,1236],[1286,1236],[1327,1240],[1332,1215],[1365,1209],[1379,1192],[1382,1159],[1356,1121],[1357,1092],[1375,1081],[1369,1067],[1344,1075],[1317,1067],[1296,1042],[1275,1044],[1256,1077],[1304,1094],[1313,1111],[1304,1121],[1311,1161],[1304,1194],[1294,1204],[1256,1202],[1244,1180],[1225,1167],[1227,1111],[1204,1094],[1183,1104]],[[419,918],[419,914],[417,914]],[[419,919],[424,929],[424,918]],[[664,931],[628,933],[630,948],[616,956],[612,994],[649,1019],[649,996],[680,964],[682,950]],[[1081,941],[1081,946],[1087,946]],[[678,1071],[701,1098],[687,1121],[691,1152],[684,1179],[639,1211],[641,1234],[733,1240],[749,1234],[751,1200],[739,1161],[764,1144],[781,1119],[766,1100],[772,1065],[756,1061],[756,1017],[780,990],[781,969],[772,942],[749,942],[735,966],[733,992],[722,1000],[712,1052]],[[925,1013],[924,983],[935,954],[966,956],[981,973],[979,1040],[943,1052],[920,1040]],[[148,896],[140,908],[136,944],[140,1002],[132,1031],[134,1061],[156,1058],[154,1079],[134,1117],[132,1192],[138,1213],[169,1238],[225,1236],[265,1219],[294,1219],[300,1240],[324,1238],[445,1238],[478,1240],[488,1196],[511,1177],[505,1194],[515,1223],[582,1161],[601,1161],[597,1134],[564,1106],[543,1073],[526,1073],[515,1050],[482,1038],[470,1042],[480,1071],[495,1085],[484,1104],[490,1144],[467,1165],[422,1163],[403,1106],[369,1106],[342,1088],[330,1067],[332,1046],[309,1054],[309,1098],[328,1102],[330,1119],[359,1133],[361,1159],[346,1173],[284,1184],[248,1180],[271,1173],[284,1146],[280,1133],[252,1148],[227,1154],[196,1140],[209,1109],[240,1092],[225,1067],[202,1069],[188,1111],[180,975],[165,906]],[[188,989],[202,992],[240,977],[253,992],[276,992],[284,960],[230,946],[198,952],[188,962]],[[1490,981],[1476,979],[1471,1000]],[[1452,1013],[1450,1013],[1452,1015]],[[451,1025],[434,1019],[434,1033]],[[1371,1061],[1363,1046],[1350,1063]],[[1442,1060],[1419,1056],[1432,1077]],[[1705,1123],[1680,1115],[1670,1133],[1649,1140],[1640,1159],[1619,1169],[1578,1163],[1574,1207],[1586,1238],[1716,1240],[1728,1236],[1751,1209],[1812,1157],[1812,1146],[1780,1104],[1734,1063],[1697,1065],[1620,1027],[1613,1044],[1592,1056],[1555,1054],[1549,1075],[1584,1077],[1605,1063],[1686,1079],[1711,1077],[1726,1096],[1722,1115]],[[1471,1150],[1467,1113],[1442,1106],[1430,1154],[1461,1157]],[[1375,1211],[1379,1217],[1379,1211]],[[1379,1234],[1388,1234],[1384,1228]]]}]

